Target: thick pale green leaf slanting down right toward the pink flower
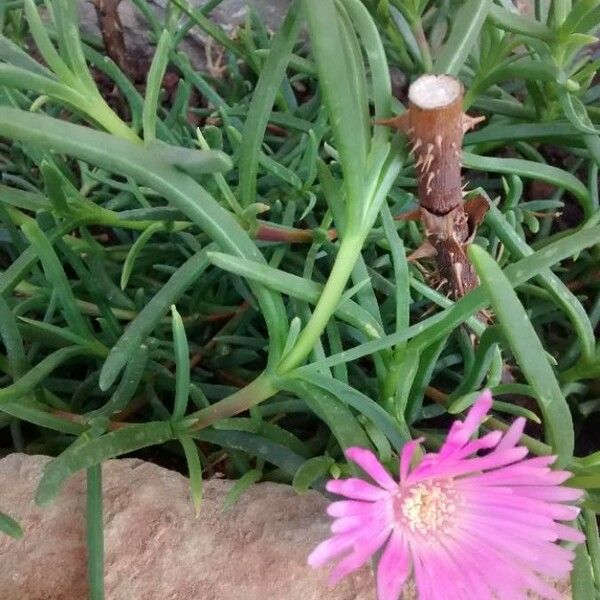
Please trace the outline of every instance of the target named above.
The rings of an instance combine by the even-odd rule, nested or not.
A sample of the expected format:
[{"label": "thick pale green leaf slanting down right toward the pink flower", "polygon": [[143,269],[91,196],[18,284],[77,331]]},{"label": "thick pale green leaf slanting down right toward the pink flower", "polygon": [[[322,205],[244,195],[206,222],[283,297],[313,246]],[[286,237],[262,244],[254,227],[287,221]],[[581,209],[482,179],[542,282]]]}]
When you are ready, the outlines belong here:
[{"label": "thick pale green leaf slanting down right toward the pink flower", "polygon": [[469,256],[515,359],[538,394],[546,435],[556,449],[560,463],[568,464],[573,456],[573,421],[544,347],[513,286],[496,262],[475,245],[470,247]]}]

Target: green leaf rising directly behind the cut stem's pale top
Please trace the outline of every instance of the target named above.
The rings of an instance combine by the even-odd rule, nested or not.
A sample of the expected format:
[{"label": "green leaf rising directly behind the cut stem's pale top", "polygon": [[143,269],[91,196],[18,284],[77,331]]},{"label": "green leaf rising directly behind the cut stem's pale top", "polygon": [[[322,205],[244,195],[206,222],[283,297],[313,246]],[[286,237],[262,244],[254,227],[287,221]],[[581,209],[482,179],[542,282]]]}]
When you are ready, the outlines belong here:
[{"label": "green leaf rising directly behind the cut stem's pale top", "polygon": [[452,31],[433,65],[435,73],[458,75],[479,38],[492,0],[466,0],[452,19]]}]

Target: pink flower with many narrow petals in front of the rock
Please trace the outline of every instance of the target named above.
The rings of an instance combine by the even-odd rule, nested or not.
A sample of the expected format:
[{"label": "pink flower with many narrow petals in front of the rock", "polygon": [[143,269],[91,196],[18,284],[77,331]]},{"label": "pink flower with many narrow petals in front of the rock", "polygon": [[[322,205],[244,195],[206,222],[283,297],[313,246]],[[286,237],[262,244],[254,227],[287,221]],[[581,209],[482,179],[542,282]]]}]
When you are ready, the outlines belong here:
[{"label": "pink flower with many narrow petals in front of the rock", "polygon": [[347,458],[377,485],[356,478],[327,484],[347,500],[329,506],[333,535],[309,564],[341,558],[333,584],[383,547],[379,600],[398,600],[411,573],[420,600],[525,600],[527,590],[558,599],[544,579],[563,578],[572,568],[574,553],[557,541],[584,541],[560,522],[576,518],[579,509],[567,503],[582,492],[561,485],[571,474],[549,468],[555,456],[525,459],[527,449],[517,446],[522,418],[504,434],[471,440],[491,406],[485,391],[466,419],[454,422],[440,451],[412,469],[422,439],[405,444],[399,483],[372,452],[350,448]]}]

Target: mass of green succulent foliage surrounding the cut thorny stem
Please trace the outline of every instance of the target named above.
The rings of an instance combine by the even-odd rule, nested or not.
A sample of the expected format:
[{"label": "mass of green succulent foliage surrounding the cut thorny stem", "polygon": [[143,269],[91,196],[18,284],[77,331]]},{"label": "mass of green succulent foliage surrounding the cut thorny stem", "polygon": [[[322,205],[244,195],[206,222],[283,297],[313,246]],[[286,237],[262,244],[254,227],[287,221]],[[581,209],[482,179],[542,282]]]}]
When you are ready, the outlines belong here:
[{"label": "mass of green succulent foliage surrounding the cut thorny stem", "polygon": [[[237,479],[228,505],[260,480],[321,489],[347,447],[390,464],[423,432],[435,448],[485,386],[486,426],[525,416],[524,443],[587,489],[574,593],[591,597],[598,1],[529,17],[508,0],[295,0],[274,35],[252,14],[230,37],[214,2],[174,0],[161,21],[138,0],[156,43],[143,93],[80,38],[74,0],[48,4],[48,22],[33,0],[0,9],[0,435],[57,455],[39,503],[87,470],[93,597],[103,461],[157,446],[197,511],[215,468]],[[195,27],[224,76],[180,52]],[[373,122],[404,110],[390,68],[458,76],[486,117],[463,153],[489,203],[482,285],[457,301],[407,258],[424,239],[396,218],[417,206],[414,160]],[[3,514],[0,531],[20,534]]]}]

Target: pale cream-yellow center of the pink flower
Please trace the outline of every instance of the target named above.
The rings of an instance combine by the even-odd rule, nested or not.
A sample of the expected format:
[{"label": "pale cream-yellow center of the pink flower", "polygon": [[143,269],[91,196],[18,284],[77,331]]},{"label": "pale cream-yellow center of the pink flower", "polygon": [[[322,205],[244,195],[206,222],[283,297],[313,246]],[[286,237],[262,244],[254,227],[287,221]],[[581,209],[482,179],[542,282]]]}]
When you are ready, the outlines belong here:
[{"label": "pale cream-yellow center of the pink flower", "polygon": [[459,496],[451,480],[421,482],[402,490],[396,497],[396,518],[412,532],[427,535],[447,532]]}]

